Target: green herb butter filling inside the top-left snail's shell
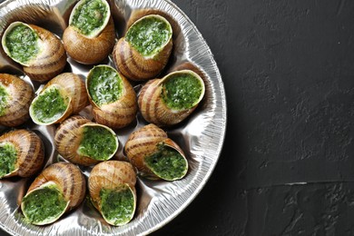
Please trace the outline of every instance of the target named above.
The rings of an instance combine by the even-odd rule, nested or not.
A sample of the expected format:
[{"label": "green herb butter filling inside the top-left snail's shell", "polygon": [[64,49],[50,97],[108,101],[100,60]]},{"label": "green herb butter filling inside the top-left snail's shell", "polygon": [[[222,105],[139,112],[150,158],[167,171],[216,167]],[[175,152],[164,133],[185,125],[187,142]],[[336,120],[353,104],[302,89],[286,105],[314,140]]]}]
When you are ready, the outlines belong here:
[{"label": "green herb butter filling inside the top-left snail's shell", "polygon": [[16,25],[5,36],[5,46],[17,62],[26,64],[40,51],[38,35],[27,25]]}]

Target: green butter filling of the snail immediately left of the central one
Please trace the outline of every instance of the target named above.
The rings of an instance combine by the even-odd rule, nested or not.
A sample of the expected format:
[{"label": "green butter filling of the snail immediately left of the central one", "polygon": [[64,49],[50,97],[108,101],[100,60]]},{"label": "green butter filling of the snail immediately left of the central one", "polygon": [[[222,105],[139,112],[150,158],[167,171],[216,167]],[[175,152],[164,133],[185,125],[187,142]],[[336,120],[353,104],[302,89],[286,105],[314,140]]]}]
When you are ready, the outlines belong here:
[{"label": "green butter filling of the snail immediately left of the central one", "polygon": [[53,123],[64,115],[69,102],[57,87],[48,87],[32,103],[32,112],[38,122]]}]

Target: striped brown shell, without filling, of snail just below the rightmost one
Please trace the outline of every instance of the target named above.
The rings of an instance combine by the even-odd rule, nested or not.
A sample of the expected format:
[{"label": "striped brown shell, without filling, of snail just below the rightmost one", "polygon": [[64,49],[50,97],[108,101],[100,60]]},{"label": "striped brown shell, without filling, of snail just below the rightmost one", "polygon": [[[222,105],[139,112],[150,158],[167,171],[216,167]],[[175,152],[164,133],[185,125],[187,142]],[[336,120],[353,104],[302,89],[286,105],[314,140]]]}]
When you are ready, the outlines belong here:
[{"label": "striped brown shell, without filling, of snail just below the rightmost one", "polygon": [[[167,176],[162,174],[162,172],[153,170],[146,158],[151,157],[157,152],[161,152],[159,150],[161,146],[171,148],[181,155],[181,165],[178,168],[182,168],[182,171],[173,174],[173,176]],[[167,137],[167,133],[152,123],[133,132],[125,143],[124,151],[129,161],[138,169],[139,174],[148,179],[174,181],[182,179],[188,171],[188,162],[182,149],[177,143],[174,143]],[[165,165],[164,168],[172,172],[175,167]]]}]

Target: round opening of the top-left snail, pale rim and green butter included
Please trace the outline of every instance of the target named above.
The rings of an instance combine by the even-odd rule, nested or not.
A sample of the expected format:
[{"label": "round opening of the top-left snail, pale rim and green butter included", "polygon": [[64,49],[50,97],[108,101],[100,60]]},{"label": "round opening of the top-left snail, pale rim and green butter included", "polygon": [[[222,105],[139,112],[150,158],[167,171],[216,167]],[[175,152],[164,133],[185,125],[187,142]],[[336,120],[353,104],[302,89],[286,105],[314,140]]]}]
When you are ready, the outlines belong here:
[{"label": "round opening of the top-left snail, pale rim and green butter included", "polygon": [[42,52],[38,34],[22,22],[14,22],[7,27],[2,38],[5,54],[15,62],[29,66],[31,61]]}]

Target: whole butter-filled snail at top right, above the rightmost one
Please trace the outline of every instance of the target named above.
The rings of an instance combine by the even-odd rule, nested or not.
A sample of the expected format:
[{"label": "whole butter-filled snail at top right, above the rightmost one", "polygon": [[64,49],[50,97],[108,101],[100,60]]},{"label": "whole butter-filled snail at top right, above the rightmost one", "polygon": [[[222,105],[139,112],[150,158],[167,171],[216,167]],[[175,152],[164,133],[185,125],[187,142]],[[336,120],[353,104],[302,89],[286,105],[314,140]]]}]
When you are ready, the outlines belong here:
[{"label": "whole butter-filled snail at top right, above the rightmost one", "polygon": [[172,52],[172,26],[161,15],[146,15],[130,26],[113,48],[118,70],[141,81],[160,74]]}]

